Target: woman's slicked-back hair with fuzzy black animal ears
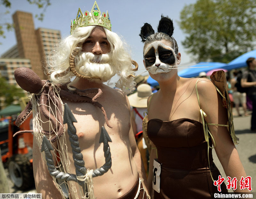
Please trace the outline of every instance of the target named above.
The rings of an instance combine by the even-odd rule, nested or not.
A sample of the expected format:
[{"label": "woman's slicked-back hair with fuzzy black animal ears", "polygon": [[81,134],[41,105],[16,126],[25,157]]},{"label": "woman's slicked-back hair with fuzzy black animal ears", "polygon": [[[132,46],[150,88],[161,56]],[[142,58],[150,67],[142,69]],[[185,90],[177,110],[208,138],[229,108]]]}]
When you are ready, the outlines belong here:
[{"label": "woman's slicked-back hair with fuzzy black animal ears", "polygon": [[140,37],[142,42],[144,42],[144,49],[145,47],[154,42],[154,41],[161,41],[165,40],[171,44],[171,47],[174,49],[174,52],[177,54],[179,49],[176,40],[172,37],[173,34],[173,23],[172,20],[167,16],[164,17],[161,15],[161,20],[159,21],[157,27],[157,33],[155,33],[152,26],[148,23],[145,23],[144,26],[141,27],[140,30]]}]

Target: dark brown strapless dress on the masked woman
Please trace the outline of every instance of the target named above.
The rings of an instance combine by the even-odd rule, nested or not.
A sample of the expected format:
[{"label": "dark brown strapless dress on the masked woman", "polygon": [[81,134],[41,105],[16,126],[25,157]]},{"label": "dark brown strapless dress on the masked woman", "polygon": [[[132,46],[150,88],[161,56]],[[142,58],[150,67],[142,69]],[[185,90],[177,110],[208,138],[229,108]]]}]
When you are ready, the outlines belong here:
[{"label": "dark brown strapless dress on the masked woman", "polygon": [[[160,193],[154,191],[154,199],[214,198],[214,193],[220,193],[211,178],[202,123],[188,118],[151,119],[147,132],[161,163]],[[218,180],[220,171],[213,163],[211,148],[209,159],[212,177]],[[228,192],[224,182],[221,192]]]}]

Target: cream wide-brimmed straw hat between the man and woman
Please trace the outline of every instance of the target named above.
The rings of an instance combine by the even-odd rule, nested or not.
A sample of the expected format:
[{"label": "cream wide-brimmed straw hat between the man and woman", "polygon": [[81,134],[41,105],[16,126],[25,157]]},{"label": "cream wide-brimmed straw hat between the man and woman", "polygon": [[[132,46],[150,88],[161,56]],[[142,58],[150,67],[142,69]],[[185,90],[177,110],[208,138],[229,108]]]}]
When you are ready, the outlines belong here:
[{"label": "cream wide-brimmed straw hat between the man and woman", "polygon": [[137,108],[147,108],[148,96],[151,94],[151,86],[148,84],[140,84],[137,87],[137,92],[128,96],[130,105]]}]

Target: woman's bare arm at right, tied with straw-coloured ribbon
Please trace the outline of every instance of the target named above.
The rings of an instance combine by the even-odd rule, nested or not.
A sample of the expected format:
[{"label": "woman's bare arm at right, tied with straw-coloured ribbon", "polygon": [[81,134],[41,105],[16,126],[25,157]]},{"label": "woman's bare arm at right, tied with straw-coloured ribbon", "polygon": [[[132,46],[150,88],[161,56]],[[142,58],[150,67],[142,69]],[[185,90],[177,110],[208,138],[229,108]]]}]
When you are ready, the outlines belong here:
[{"label": "woman's bare arm at right, tied with straw-coloured ribbon", "polygon": [[[203,80],[198,82],[197,87],[201,108],[207,115],[204,117],[205,121],[207,123],[227,124],[227,109],[222,106],[221,96],[212,82]],[[226,176],[232,179],[236,177],[237,183],[239,183],[242,176],[244,178],[247,176],[227,127],[208,125],[208,128],[215,140],[215,151]],[[239,184],[237,187],[235,192],[246,192],[246,190],[239,189]]]}]

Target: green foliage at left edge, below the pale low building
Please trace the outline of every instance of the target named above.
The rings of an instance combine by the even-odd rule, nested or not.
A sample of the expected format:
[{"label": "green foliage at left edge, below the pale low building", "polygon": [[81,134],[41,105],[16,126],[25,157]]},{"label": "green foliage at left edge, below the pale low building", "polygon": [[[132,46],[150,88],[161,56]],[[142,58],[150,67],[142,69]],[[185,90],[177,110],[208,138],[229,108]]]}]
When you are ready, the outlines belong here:
[{"label": "green foliage at left edge, below the pale low building", "polygon": [[21,88],[8,84],[4,77],[0,77],[0,98],[4,98],[5,106],[12,104],[15,99],[24,96],[25,94]]}]

